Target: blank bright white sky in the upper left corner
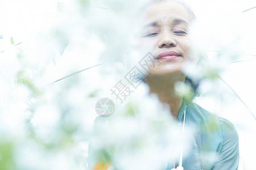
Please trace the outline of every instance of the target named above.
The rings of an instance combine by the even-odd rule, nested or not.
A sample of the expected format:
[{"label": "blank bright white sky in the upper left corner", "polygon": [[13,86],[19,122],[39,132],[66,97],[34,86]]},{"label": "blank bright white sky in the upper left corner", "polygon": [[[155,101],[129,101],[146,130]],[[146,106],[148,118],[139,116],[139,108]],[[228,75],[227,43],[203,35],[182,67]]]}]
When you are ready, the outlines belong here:
[{"label": "blank bright white sky in the upper left corner", "polygon": [[28,39],[34,33],[47,28],[57,12],[57,0],[0,0],[0,50]]}]

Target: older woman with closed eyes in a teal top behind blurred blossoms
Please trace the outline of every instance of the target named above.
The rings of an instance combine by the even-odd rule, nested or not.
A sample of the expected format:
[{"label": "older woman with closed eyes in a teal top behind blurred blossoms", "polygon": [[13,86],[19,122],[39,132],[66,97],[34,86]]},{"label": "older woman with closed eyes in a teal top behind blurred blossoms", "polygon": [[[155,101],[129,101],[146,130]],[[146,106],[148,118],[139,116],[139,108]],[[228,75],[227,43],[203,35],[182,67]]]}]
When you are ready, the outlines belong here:
[{"label": "older woman with closed eyes in a teal top behind blurred blossoms", "polygon": [[[192,101],[176,95],[175,83],[192,81],[181,71],[183,63],[193,60],[189,27],[195,15],[187,4],[174,0],[154,1],[144,8],[141,44],[149,48],[159,66],[151,69],[145,82],[150,92],[167,103],[177,122],[191,127],[193,140],[183,158],[184,169],[237,169],[239,162],[238,135],[227,120],[209,113]],[[195,90],[195,86],[192,86]],[[185,113],[185,117],[184,117]],[[214,126],[213,126],[214,125]],[[177,168],[178,160],[166,169]],[[98,164],[93,169],[97,169]],[[181,165],[180,165],[181,166]],[[105,169],[108,169],[106,165]],[[102,169],[102,167],[101,167]]]}]

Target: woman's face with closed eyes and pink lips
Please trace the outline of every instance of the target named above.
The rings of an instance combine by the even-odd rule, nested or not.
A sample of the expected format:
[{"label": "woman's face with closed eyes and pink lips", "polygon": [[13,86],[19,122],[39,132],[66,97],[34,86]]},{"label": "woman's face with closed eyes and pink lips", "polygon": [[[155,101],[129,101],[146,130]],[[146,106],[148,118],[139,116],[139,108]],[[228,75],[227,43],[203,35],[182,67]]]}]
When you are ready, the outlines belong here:
[{"label": "woman's face with closed eyes and pink lips", "polygon": [[160,62],[150,74],[181,73],[181,66],[188,61],[191,51],[188,34],[191,16],[187,9],[174,1],[152,3],[143,18],[140,45]]}]

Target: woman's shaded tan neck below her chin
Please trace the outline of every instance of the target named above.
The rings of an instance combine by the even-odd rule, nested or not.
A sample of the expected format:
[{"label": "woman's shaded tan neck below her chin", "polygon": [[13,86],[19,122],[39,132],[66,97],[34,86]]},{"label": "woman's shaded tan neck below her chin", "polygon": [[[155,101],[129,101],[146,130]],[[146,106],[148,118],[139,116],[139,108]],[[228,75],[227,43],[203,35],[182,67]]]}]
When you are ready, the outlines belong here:
[{"label": "woman's shaded tan neck below her chin", "polygon": [[179,115],[183,98],[176,95],[175,83],[185,81],[185,75],[182,73],[172,73],[168,75],[150,75],[145,82],[150,87],[150,92],[158,95],[159,100],[167,103],[171,108],[171,113],[175,119]]}]

